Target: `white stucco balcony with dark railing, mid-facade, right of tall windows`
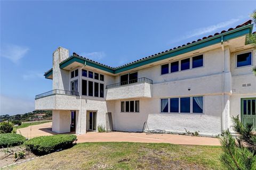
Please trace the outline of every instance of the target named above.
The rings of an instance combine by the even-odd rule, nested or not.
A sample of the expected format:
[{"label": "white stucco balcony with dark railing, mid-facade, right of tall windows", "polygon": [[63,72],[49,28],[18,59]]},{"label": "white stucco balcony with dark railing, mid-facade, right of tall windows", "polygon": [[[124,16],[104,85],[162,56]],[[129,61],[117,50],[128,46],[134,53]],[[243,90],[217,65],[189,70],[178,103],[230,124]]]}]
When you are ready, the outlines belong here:
[{"label": "white stucco balcony with dark railing, mid-facade, right of tall windows", "polygon": [[106,100],[151,98],[153,80],[139,78],[106,86]]}]

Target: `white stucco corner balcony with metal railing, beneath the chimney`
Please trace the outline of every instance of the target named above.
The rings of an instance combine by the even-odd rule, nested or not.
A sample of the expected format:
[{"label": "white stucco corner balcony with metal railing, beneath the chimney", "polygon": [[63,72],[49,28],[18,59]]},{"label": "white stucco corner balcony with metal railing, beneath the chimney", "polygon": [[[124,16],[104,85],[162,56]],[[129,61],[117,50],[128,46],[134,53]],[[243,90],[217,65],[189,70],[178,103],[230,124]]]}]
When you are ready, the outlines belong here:
[{"label": "white stucco corner balcony with metal railing, beneath the chimney", "polygon": [[67,90],[51,90],[36,95],[35,110],[77,110],[79,93]]}]

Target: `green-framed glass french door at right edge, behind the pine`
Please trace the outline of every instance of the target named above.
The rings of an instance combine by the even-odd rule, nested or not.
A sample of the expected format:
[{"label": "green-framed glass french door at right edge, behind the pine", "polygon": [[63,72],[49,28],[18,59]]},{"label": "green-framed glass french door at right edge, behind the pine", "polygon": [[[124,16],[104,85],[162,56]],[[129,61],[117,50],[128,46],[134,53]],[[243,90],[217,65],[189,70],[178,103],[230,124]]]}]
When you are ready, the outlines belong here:
[{"label": "green-framed glass french door at right edge, behind the pine", "polygon": [[256,98],[242,98],[241,99],[241,121],[252,123],[254,130],[256,130]]}]

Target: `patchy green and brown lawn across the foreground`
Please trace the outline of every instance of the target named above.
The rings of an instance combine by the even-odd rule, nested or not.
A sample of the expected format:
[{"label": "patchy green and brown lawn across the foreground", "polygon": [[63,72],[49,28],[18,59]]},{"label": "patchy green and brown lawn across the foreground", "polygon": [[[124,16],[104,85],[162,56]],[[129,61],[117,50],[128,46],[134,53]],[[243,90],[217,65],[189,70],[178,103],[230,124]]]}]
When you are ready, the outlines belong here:
[{"label": "patchy green and brown lawn across the foreground", "polygon": [[[217,146],[90,142],[11,169],[225,169]],[[96,168],[95,168],[96,167]],[[97,168],[100,167],[100,168]]]}]

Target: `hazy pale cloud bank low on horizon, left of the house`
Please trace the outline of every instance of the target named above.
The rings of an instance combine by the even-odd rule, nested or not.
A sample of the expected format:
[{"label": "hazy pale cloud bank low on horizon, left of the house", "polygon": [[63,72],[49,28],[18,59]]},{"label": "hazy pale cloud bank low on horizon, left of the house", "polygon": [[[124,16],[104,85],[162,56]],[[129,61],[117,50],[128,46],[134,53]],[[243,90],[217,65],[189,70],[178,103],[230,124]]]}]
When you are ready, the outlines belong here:
[{"label": "hazy pale cloud bank low on horizon, left of the house", "polygon": [[19,97],[0,96],[0,115],[24,114],[34,111],[34,100],[23,99]]}]

